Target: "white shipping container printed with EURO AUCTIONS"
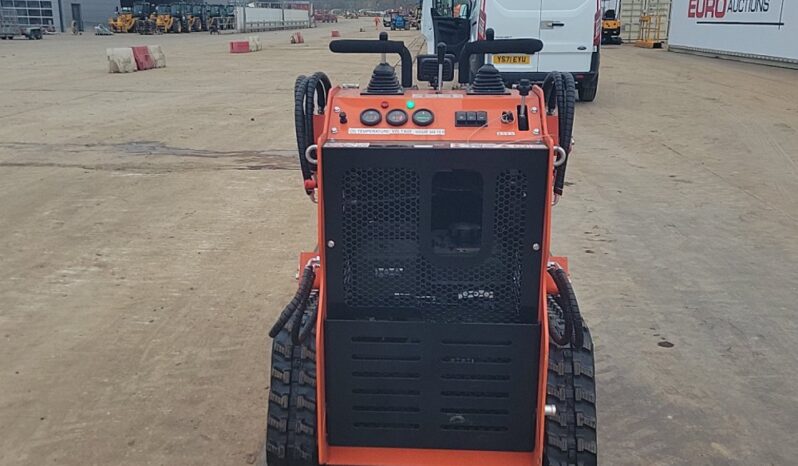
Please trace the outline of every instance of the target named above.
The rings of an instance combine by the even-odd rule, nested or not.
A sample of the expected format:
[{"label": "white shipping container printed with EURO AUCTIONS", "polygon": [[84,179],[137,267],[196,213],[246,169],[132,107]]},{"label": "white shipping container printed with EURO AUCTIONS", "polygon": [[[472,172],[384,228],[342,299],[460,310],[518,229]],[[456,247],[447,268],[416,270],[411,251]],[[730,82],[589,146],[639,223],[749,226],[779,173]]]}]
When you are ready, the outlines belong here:
[{"label": "white shipping container printed with EURO AUCTIONS", "polygon": [[798,67],[798,1],[673,0],[668,47]]}]

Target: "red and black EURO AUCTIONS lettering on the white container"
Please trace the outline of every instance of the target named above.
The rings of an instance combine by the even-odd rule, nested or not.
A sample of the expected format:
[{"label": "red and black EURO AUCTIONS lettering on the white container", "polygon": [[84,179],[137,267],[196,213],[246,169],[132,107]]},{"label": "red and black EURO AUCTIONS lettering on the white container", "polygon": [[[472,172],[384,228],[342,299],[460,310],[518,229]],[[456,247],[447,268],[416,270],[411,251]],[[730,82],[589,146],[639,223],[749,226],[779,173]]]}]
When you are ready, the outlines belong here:
[{"label": "red and black EURO AUCTIONS lettering on the white container", "polygon": [[[688,0],[687,17],[699,24],[784,26],[787,0]],[[795,0],[792,0],[795,1]]]}]

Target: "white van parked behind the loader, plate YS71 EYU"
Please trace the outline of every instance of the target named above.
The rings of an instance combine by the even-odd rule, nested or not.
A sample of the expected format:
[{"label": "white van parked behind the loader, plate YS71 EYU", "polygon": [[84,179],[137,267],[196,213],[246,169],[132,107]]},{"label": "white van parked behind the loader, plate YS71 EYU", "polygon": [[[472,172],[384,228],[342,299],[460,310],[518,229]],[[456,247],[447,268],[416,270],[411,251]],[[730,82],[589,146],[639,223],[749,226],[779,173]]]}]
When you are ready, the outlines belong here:
[{"label": "white van parked behind the loader, plate YS71 EYU", "polygon": [[[459,56],[466,42],[534,38],[543,50],[533,56],[494,55],[493,64],[510,85],[541,82],[550,71],[571,72],[579,99],[593,101],[598,90],[601,7],[599,0],[423,0],[422,29],[428,53],[438,42]],[[478,58],[475,67],[484,63]]]}]

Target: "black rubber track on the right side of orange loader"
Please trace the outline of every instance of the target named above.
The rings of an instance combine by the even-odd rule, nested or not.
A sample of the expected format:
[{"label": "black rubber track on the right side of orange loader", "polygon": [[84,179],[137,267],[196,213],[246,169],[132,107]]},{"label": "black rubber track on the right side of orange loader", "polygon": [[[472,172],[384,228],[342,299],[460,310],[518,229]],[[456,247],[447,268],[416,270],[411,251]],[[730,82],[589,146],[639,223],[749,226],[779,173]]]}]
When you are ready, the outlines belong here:
[{"label": "black rubber track on the right side of orange loader", "polygon": [[[554,331],[565,323],[556,300],[549,296],[549,319]],[[596,384],[593,340],[587,325],[581,348],[549,344],[546,403],[557,406],[557,415],[546,419],[547,466],[595,466]]]}]

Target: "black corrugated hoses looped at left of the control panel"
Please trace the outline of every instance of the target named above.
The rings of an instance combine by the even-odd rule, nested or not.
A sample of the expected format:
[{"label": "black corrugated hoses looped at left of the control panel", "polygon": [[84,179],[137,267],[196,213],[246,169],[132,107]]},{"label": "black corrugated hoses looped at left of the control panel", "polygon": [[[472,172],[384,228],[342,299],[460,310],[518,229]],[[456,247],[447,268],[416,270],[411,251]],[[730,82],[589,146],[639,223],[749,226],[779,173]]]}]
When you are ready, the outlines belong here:
[{"label": "black corrugated hoses looped at left of the control panel", "polygon": [[[312,179],[315,167],[305,159],[305,151],[314,144],[313,115],[323,114],[327,107],[327,93],[332,88],[330,78],[321,71],[310,76],[299,76],[294,82],[294,128],[299,150],[302,178]],[[305,189],[308,194],[311,190]]]}]

